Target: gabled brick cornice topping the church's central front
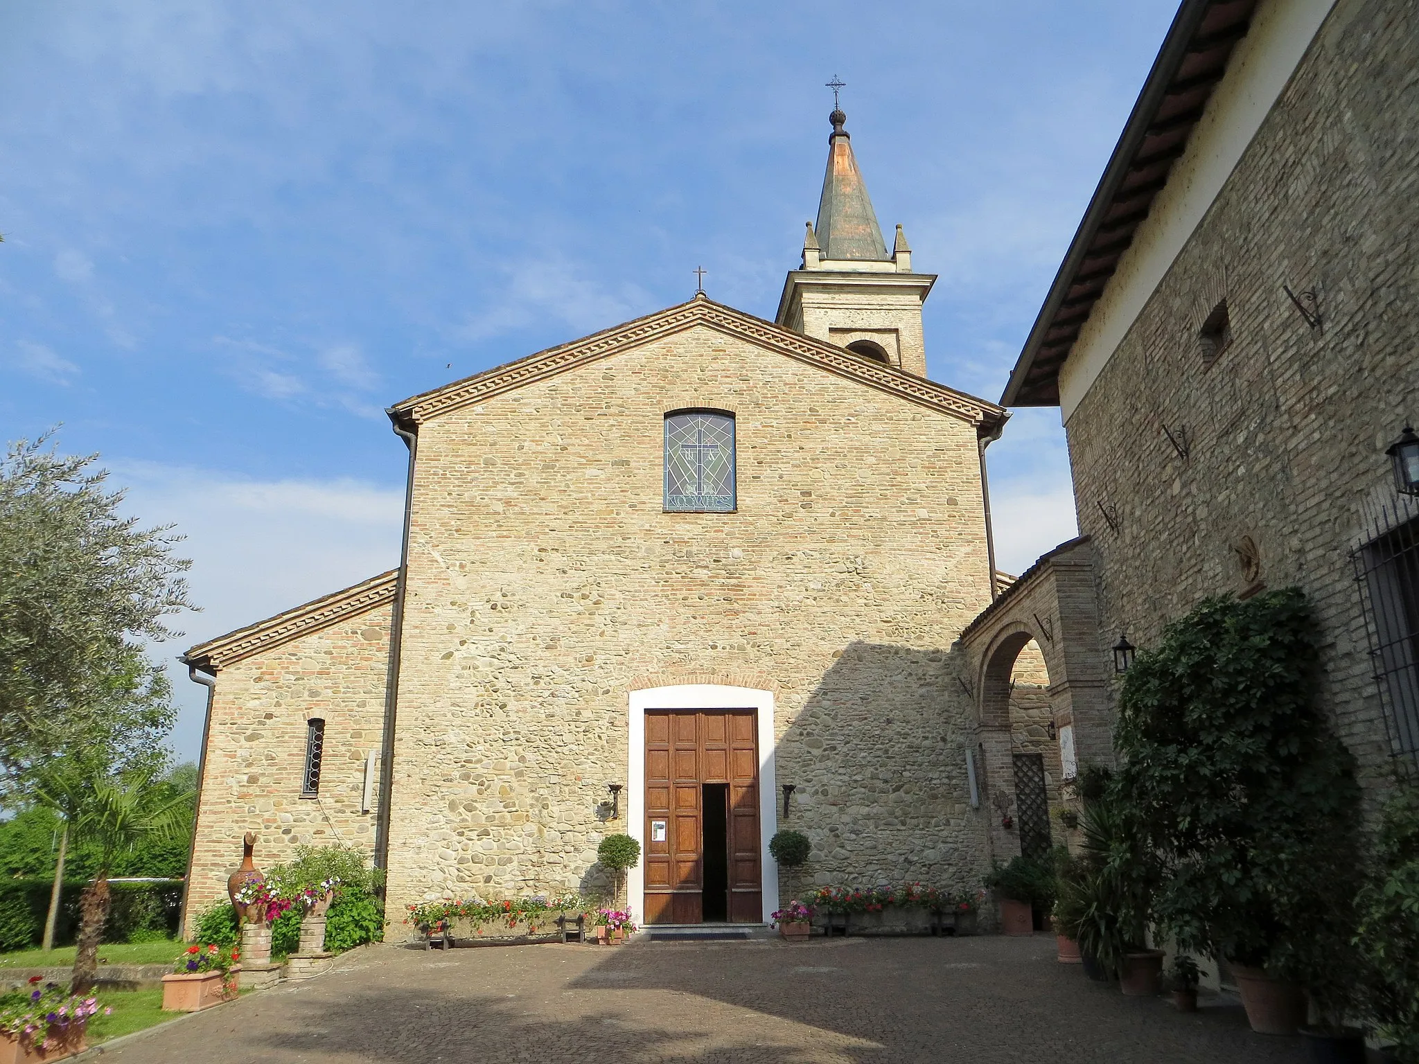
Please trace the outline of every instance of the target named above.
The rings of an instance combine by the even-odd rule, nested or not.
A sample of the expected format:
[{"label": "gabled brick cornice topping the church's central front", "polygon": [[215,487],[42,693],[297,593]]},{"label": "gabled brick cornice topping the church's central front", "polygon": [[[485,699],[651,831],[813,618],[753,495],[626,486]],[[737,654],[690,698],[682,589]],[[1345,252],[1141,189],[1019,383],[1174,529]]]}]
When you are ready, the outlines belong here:
[{"label": "gabled brick cornice topping the church's central front", "polygon": [[[844,277],[851,277],[851,274],[844,274]],[[905,278],[911,275],[897,274],[897,277]],[[951,414],[973,424],[981,436],[996,433],[1006,419],[1002,407],[985,399],[956,392],[945,384],[938,384],[891,366],[883,366],[836,345],[785,329],[762,318],[744,314],[744,311],[736,311],[732,306],[717,304],[704,295],[697,295],[690,302],[657,311],[624,325],[592,333],[580,340],[549,348],[536,355],[528,355],[517,362],[509,362],[505,366],[497,366],[464,380],[455,380],[433,392],[413,396],[392,406],[389,414],[396,424],[419,426],[453,410],[482,403],[494,396],[526,384],[548,380],[568,370],[650,343],[651,340],[674,336],[697,325],[758,343],[797,362],[827,370],[840,377],[847,377],[878,392],[885,392],[918,406]]]}]

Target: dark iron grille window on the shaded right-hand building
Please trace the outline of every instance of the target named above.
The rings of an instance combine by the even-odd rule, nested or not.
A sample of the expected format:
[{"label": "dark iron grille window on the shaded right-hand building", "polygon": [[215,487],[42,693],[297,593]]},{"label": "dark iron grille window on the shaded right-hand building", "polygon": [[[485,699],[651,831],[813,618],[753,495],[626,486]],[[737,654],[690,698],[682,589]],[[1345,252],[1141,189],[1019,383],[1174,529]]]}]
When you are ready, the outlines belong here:
[{"label": "dark iron grille window on the shaded right-hand building", "polygon": [[1376,535],[1354,558],[1391,752],[1415,767],[1419,766],[1419,518]]}]

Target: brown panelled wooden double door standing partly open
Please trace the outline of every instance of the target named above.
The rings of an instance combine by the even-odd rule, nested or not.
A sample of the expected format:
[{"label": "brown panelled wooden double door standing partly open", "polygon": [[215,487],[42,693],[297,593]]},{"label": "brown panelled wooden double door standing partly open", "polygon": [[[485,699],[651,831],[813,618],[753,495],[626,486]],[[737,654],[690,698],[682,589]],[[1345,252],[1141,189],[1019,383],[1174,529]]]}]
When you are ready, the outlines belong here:
[{"label": "brown panelled wooden double door standing partly open", "polygon": [[646,922],[763,919],[753,709],[646,711]]}]

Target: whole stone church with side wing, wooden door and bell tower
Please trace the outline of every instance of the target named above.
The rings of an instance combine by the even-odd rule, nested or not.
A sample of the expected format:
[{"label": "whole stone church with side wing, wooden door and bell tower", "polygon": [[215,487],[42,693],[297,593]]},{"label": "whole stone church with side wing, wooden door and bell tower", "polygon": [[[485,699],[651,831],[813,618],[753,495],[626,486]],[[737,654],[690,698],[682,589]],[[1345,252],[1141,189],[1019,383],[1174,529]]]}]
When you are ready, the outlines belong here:
[{"label": "whole stone church with side wing, wooden door and bell tower", "polygon": [[619,831],[653,924],[768,919],[783,827],[816,884],[979,884],[952,645],[993,597],[1006,414],[927,379],[934,278],[832,121],[775,322],[701,292],[394,404],[400,567],[187,653],[211,684],[189,926],[245,830],[265,863],[363,848],[394,921],[604,890]]}]

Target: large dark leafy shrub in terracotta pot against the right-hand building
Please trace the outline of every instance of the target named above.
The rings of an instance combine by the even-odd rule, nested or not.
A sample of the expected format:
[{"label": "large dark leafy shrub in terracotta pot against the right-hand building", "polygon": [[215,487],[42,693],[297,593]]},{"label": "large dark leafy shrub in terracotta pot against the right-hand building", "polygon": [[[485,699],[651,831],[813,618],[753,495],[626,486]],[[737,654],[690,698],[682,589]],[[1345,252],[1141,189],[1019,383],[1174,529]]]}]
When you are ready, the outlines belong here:
[{"label": "large dark leafy shrub in terracotta pot against the right-hand building", "polygon": [[1138,653],[1118,699],[1111,793],[1158,861],[1151,915],[1178,948],[1232,960],[1257,1031],[1304,1021],[1298,983],[1351,1006],[1359,786],[1315,705],[1300,589],[1205,599]]}]

